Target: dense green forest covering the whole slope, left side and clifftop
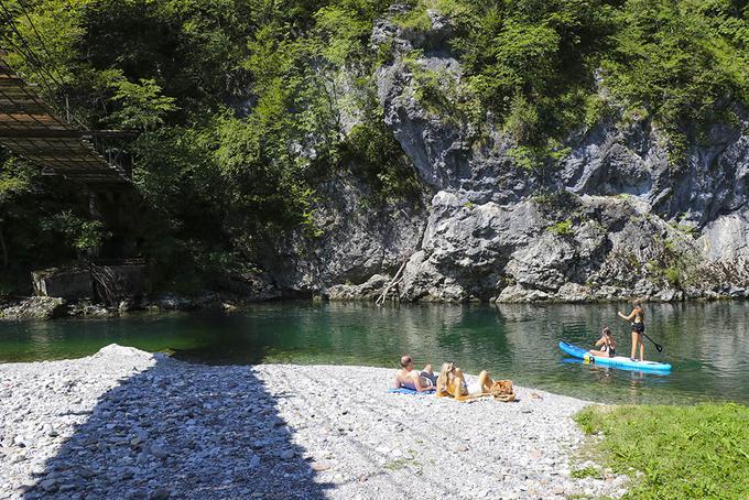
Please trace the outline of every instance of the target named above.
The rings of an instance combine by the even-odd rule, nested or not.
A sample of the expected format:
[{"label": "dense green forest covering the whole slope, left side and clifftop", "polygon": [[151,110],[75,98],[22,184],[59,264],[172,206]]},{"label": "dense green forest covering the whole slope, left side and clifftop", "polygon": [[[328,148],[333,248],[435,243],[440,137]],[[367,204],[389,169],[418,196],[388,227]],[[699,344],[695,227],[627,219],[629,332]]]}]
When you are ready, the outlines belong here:
[{"label": "dense green forest covering the whole slope, left side and clifftop", "polygon": [[[677,151],[690,127],[749,104],[745,2],[403,3],[392,14],[376,0],[4,0],[13,23],[0,40],[61,113],[67,99],[90,128],[140,132],[129,145],[150,207],[139,251],[162,261],[250,262],[290,230],[319,237],[316,186],[341,173],[369,184],[381,206],[414,197],[374,90],[377,66],[392,56],[370,42],[384,15],[414,31],[431,29],[432,12],[451,20],[465,85],[462,99],[443,100],[458,108],[445,115],[503,128],[529,166],[561,157],[565,135],[611,107],[622,119],[652,117]],[[421,95],[439,100],[439,78],[422,77]],[[106,237],[69,218],[84,217],[80,207],[52,210],[69,214],[56,222],[23,211],[47,193],[44,180],[3,161],[0,265],[44,260],[25,230],[56,233],[58,256],[94,244],[91,231]],[[31,224],[11,231],[19,217]]]}]

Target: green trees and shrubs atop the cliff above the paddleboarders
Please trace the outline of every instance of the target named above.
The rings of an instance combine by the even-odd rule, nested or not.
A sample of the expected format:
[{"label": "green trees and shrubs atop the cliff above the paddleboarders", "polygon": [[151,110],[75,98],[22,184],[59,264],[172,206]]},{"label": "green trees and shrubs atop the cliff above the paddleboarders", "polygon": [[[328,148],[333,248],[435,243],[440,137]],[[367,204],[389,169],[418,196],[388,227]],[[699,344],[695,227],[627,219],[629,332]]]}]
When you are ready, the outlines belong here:
[{"label": "green trees and shrubs atop the cliff above the paddleboarders", "polygon": [[749,105],[749,10],[740,3],[452,3],[459,8],[444,12],[468,81],[523,145],[589,126],[606,108],[601,84],[609,99],[659,122],[676,160],[684,128],[728,120],[735,101]]}]

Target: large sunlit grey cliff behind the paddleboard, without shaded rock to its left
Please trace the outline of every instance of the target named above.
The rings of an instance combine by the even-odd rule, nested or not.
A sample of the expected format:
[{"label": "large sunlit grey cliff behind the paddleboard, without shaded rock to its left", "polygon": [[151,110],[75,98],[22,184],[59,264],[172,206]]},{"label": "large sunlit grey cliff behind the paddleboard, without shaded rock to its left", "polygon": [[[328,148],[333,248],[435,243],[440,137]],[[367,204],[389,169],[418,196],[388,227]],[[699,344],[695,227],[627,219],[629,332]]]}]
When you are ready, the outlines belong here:
[{"label": "large sunlit grey cliff behind the paddleboard, without shaded rock to its left", "polygon": [[[445,21],[432,19],[444,33]],[[421,249],[406,267],[403,298],[743,295],[746,115],[742,128],[714,126],[681,163],[669,157],[649,120],[607,119],[569,138],[569,155],[543,180],[550,188],[539,189],[539,180],[508,154],[511,140],[490,122],[484,145],[467,148],[469,126],[435,116],[415,97],[414,66],[442,72],[447,78],[441,81],[452,87],[444,90],[459,98],[449,83],[460,78],[458,62],[397,28],[380,25],[374,39],[382,33],[400,37],[393,62],[377,75],[386,120],[436,191]],[[415,62],[405,57],[413,48],[423,51]]]}]

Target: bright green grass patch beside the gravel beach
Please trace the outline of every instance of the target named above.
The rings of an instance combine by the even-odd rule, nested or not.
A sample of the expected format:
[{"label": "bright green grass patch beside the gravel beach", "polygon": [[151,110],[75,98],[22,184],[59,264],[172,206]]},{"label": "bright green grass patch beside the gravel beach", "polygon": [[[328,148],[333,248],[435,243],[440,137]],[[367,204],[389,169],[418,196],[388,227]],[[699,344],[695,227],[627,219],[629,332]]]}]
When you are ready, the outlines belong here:
[{"label": "bright green grass patch beside the gravel beach", "polygon": [[589,406],[575,419],[585,433],[604,434],[595,446],[608,467],[644,474],[625,498],[747,498],[746,406]]}]

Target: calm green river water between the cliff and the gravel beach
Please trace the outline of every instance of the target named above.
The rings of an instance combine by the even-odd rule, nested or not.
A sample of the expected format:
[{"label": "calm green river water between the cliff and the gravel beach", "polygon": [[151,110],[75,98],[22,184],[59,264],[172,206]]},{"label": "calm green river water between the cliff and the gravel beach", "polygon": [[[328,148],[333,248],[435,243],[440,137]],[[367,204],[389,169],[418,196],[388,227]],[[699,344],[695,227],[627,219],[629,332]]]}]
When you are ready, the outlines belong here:
[{"label": "calm green river water between the cliff and the gravel beach", "polygon": [[[454,360],[527,387],[605,402],[749,404],[749,302],[647,304],[645,357],[671,374],[565,362],[558,340],[591,345],[612,327],[629,355],[625,304],[402,305],[275,303],[241,314],[134,314],[116,319],[0,323],[0,361],[83,357],[111,343],[205,362],[397,366]],[[628,312],[628,311],[625,311]],[[384,382],[384,381],[383,381]]]}]

